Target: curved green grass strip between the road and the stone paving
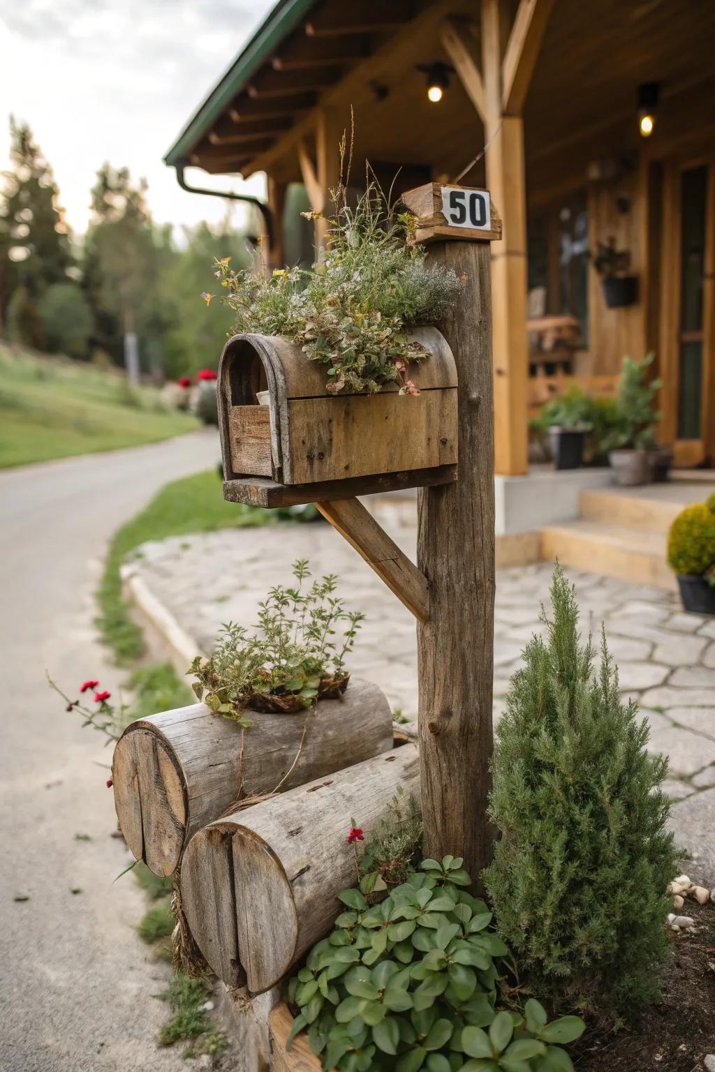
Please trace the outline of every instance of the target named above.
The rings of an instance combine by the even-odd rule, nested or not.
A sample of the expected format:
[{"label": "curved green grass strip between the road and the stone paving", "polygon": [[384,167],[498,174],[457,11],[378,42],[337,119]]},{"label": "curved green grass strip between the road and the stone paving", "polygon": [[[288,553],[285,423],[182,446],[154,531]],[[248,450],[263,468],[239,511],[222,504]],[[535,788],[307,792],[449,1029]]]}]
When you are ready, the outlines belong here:
[{"label": "curved green grass strip between the road and the stone paving", "polygon": [[[141,630],[130,619],[121,595],[119,568],[140,544],[219,528],[272,524],[280,520],[311,520],[309,511],[262,510],[227,503],[213,470],[174,480],[158,493],[146,509],[119,528],[109,546],[104,576],[98,592],[98,626],[104,642],[120,665],[138,659],[144,649]],[[187,702],[187,701],[184,701]],[[176,704],[175,704],[176,705]]]}]

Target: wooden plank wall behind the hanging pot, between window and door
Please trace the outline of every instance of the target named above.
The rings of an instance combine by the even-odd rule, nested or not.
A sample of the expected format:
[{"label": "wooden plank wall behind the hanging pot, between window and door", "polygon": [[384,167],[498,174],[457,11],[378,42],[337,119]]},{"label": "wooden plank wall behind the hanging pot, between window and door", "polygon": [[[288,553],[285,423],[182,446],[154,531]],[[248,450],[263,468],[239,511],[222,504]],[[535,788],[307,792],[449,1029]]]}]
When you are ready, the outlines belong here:
[{"label": "wooden plank wall behind the hanging pot, between window and door", "polygon": [[[629,199],[623,212],[616,198]],[[589,353],[591,375],[612,375],[621,371],[624,356],[640,360],[645,354],[643,298],[647,281],[643,273],[643,232],[640,226],[645,191],[638,172],[629,172],[612,182],[589,188],[589,248],[595,254],[597,243],[614,237],[619,249],[630,250],[630,272],[638,276],[638,301],[627,309],[608,309],[601,278],[589,267]]]}]

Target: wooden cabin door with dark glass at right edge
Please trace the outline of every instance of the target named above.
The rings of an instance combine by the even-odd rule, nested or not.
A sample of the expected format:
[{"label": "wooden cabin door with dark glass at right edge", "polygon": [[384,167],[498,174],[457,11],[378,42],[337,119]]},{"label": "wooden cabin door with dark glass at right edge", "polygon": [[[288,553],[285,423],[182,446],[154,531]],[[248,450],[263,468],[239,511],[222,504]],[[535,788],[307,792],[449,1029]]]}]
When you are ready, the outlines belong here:
[{"label": "wooden cabin door with dark glass at right edge", "polygon": [[675,464],[715,462],[715,159],[673,163],[664,196],[664,438]]}]

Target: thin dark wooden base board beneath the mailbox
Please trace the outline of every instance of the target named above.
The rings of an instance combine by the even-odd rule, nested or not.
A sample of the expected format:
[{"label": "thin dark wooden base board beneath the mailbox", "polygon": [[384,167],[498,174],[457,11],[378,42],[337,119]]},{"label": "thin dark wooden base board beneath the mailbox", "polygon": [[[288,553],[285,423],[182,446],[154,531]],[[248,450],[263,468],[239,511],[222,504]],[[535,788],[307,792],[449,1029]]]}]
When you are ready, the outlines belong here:
[{"label": "thin dark wooden base board beneath the mailbox", "polygon": [[405,488],[423,488],[428,485],[451,483],[456,479],[456,465],[359,476],[346,480],[322,480],[321,483],[288,485],[259,476],[243,477],[240,480],[224,480],[223,497],[229,503],[244,503],[247,506],[270,508],[272,506],[295,506],[297,503],[329,502],[351,495],[374,495],[379,492],[403,491]]}]

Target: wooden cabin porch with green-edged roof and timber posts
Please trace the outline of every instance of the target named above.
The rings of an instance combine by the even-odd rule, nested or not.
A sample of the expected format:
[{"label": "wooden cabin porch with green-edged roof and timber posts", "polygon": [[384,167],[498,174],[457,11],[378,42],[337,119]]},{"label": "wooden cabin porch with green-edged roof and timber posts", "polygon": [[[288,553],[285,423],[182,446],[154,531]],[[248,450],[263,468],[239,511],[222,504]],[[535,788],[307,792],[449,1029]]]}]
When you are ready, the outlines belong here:
[{"label": "wooden cabin porch with green-edged roof and timber posts", "polygon": [[[369,160],[400,193],[462,175],[489,187],[502,215],[497,474],[527,472],[530,408],[575,379],[612,393],[624,355],[649,351],[661,442],[676,464],[712,465],[714,50],[709,0],[280,0],[166,161],[265,172],[281,265],[286,197],[299,184],[314,209],[329,207],[352,108],[354,176]],[[424,69],[435,63],[433,103]],[[642,137],[637,93],[653,83]],[[637,279],[620,308],[590,259],[610,239]]]}]

